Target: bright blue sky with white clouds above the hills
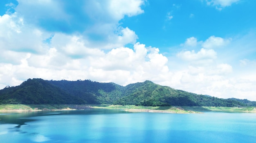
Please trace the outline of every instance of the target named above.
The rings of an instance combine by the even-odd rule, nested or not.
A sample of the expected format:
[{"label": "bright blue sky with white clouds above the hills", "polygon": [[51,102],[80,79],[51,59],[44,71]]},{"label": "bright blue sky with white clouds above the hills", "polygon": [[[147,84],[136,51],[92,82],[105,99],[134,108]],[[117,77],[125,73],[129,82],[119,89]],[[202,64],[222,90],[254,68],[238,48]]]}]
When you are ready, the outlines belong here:
[{"label": "bright blue sky with white clouds above the hills", "polygon": [[256,0],[1,0],[0,89],[29,78],[256,101]]}]

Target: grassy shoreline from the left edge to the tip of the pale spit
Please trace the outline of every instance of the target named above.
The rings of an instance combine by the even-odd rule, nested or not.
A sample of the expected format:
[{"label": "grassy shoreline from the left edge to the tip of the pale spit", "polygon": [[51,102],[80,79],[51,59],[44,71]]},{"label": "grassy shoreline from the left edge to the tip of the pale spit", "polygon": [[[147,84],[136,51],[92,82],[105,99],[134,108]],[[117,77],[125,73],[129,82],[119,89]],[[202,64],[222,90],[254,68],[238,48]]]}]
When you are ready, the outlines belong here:
[{"label": "grassy shoreline from the left edge to the tip of the pale spit", "polygon": [[[1,105],[0,105],[1,106]],[[174,106],[135,106],[135,105],[72,105],[72,104],[42,104],[42,105],[25,105],[25,104],[6,104],[0,108],[0,113],[7,112],[37,112],[37,111],[75,111],[85,109],[110,109],[124,110],[126,112],[148,112],[148,113],[173,113],[173,114],[188,114],[201,113],[199,111],[186,110],[182,107]]]}]

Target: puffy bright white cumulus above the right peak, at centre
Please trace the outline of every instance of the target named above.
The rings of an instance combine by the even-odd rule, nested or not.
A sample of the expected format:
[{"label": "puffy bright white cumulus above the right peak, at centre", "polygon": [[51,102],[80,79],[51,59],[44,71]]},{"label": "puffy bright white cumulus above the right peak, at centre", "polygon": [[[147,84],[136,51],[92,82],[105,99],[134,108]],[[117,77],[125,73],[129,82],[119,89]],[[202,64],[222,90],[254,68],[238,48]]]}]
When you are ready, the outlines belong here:
[{"label": "puffy bright white cumulus above the right peak, at centre", "polygon": [[146,48],[144,44],[136,43],[134,50],[116,48],[99,59],[91,60],[91,67],[103,71],[123,70],[130,72],[130,76],[140,75],[140,78],[147,79],[157,73],[168,72],[167,61],[159,54],[158,48]]}]

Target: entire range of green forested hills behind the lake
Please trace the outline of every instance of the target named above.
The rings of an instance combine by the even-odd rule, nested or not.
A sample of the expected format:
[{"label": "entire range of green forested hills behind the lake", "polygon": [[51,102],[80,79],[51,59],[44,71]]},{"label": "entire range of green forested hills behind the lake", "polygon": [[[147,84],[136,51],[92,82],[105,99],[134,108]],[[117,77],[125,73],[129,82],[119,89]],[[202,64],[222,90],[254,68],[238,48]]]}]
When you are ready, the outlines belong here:
[{"label": "entire range of green forested hills behind the lake", "polygon": [[256,106],[256,102],[198,95],[151,81],[125,87],[91,80],[28,79],[0,90],[0,104],[130,104],[145,106]]}]

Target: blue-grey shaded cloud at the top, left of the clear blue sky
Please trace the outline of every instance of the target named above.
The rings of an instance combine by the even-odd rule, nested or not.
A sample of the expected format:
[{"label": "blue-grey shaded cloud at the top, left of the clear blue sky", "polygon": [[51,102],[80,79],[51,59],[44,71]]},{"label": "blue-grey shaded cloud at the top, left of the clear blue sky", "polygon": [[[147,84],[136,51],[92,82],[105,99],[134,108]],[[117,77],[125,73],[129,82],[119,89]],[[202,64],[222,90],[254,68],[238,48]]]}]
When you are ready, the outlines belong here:
[{"label": "blue-grey shaded cloud at the top, left of the clear blue sky", "polygon": [[[87,48],[111,49],[136,43],[138,37],[135,32],[122,27],[119,21],[126,15],[131,17],[144,13],[141,9],[143,4],[144,0],[22,0],[15,10],[31,27],[54,34],[79,34],[87,41]],[[36,16],[33,13],[37,13]]]}]

